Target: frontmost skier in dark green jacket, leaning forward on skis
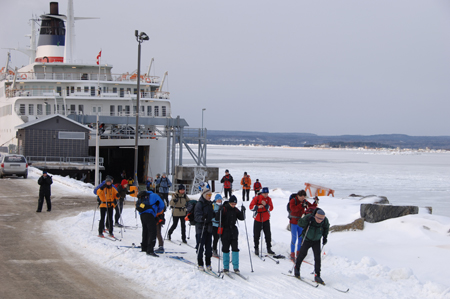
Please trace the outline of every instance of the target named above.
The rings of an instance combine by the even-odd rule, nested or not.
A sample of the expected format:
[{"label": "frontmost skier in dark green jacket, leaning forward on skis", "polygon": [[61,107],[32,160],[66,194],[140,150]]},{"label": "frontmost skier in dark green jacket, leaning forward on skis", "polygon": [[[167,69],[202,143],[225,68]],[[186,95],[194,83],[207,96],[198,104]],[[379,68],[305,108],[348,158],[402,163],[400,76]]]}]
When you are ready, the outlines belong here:
[{"label": "frontmost skier in dark green jacket, leaning forward on skis", "polygon": [[295,262],[294,275],[295,277],[300,278],[300,265],[308,254],[309,248],[312,247],[314,253],[314,280],[317,283],[324,284],[320,277],[320,239],[323,237],[322,244],[327,244],[328,231],[330,229],[328,218],[325,217],[325,212],[322,209],[317,208],[312,214],[308,214],[298,220],[298,226],[303,228],[302,237],[304,238],[304,241],[300,247],[297,261]]}]

